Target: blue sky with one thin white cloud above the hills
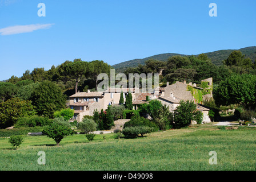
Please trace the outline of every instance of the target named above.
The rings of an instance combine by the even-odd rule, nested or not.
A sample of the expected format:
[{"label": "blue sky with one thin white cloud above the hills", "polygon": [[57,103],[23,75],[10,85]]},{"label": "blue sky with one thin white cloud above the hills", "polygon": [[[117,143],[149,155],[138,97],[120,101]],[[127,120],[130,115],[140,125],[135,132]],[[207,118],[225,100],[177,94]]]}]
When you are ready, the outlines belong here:
[{"label": "blue sky with one thin white cloud above the hills", "polygon": [[256,46],[255,10],[255,0],[0,0],[0,80],[77,58],[114,65]]}]

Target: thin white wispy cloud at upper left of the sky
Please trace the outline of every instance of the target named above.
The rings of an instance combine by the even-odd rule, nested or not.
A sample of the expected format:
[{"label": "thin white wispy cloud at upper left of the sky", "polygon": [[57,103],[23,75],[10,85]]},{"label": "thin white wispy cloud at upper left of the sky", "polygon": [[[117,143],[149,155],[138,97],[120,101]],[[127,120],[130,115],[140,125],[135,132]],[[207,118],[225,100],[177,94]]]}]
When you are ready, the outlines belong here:
[{"label": "thin white wispy cloud at upper left of the sky", "polygon": [[22,33],[26,33],[26,32],[33,32],[35,30],[50,28],[51,26],[53,26],[53,23],[17,25],[17,26],[6,27],[6,28],[0,29],[0,34],[1,35],[22,34]]}]

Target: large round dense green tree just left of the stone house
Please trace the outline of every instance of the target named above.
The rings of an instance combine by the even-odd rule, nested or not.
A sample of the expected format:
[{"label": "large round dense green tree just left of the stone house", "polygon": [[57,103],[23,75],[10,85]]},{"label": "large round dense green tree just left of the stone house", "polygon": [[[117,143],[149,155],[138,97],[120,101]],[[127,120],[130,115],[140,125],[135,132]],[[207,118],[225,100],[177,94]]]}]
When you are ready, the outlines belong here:
[{"label": "large round dense green tree just left of the stone house", "polygon": [[61,88],[50,81],[41,82],[35,88],[31,99],[37,113],[49,118],[54,118],[54,112],[64,109],[66,104]]}]

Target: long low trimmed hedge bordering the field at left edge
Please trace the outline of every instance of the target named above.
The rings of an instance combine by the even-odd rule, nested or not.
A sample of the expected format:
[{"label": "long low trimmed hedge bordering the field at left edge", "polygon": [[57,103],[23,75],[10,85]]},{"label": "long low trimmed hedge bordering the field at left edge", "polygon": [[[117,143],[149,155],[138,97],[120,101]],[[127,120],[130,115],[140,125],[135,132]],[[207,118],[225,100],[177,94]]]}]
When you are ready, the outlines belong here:
[{"label": "long low trimmed hedge bordering the field at left edge", "polygon": [[0,137],[10,137],[13,135],[27,135],[27,133],[40,133],[43,130],[41,126],[37,127],[19,127],[12,130],[0,130]]}]

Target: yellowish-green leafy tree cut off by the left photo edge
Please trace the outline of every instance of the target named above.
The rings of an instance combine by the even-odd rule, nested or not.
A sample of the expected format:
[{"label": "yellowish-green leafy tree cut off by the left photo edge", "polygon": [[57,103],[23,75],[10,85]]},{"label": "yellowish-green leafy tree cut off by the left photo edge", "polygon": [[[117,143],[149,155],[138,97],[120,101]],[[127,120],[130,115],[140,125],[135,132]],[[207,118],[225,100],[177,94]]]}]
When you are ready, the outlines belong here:
[{"label": "yellowish-green leafy tree cut off by the left photo edge", "polygon": [[35,107],[31,101],[22,101],[11,98],[0,104],[0,127],[6,128],[15,125],[19,118],[35,115]]}]

